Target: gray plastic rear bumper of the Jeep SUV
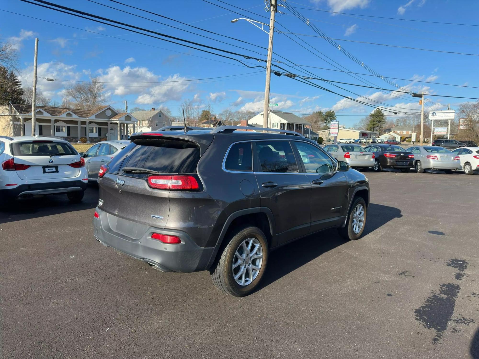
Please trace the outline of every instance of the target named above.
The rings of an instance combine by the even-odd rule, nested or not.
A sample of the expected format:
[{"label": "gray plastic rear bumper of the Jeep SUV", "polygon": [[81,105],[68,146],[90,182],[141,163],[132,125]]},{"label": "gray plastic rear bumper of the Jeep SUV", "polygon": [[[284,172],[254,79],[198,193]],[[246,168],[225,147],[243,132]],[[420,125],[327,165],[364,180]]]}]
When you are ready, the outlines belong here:
[{"label": "gray plastic rear bumper of the Jeep SUV", "polygon": [[[208,269],[215,247],[199,247],[186,233],[178,230],[149,227],[139,239],[115,233],[107,213],[96,208],[100,218],[93,218],[93,236],[106,247],[148,263],[162,272],[194,272]],[[151,238],[152,233],[180,237],[180,244],[164,244]]]}]

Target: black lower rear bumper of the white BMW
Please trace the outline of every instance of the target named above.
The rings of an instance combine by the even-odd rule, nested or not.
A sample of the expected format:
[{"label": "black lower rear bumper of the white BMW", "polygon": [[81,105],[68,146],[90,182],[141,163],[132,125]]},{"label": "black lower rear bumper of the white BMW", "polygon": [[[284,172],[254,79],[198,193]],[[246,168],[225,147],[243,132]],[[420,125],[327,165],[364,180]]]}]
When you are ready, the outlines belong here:
[{"label": "black lower rear bumper of the white BMW", "polygon": [[87,182],[82,180],[21,184],[11,189],[0,191],[2,198],[16,198],[23,195],[62,194],[74,191],[85,191]]}]

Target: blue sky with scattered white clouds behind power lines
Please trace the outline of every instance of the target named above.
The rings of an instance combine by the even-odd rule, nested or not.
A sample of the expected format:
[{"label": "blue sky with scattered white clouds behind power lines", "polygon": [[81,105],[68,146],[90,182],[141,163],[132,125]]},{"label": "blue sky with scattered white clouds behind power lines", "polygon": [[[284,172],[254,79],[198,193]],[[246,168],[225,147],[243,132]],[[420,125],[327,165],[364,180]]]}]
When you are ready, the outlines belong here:
[{"label": "blue sky with scattered white clouds behind power lines", "polygon": [[[228,8],[230,11],[200,0],[123,0],[121,2],[260,47],[267,47],[267,34],[246,21],[230,22],[238,17],[268,22],[265,17],[269,17],[269,13],[264,11],[262,0],[243,0],[234,3],[252,13],[235,9],[218,0],[208,1]],[[58,1],[57,3],[242,55],[262,59],[266,55],[266,50],[257,46],[209,34],[178,22],[127,8],[112,1],[98,0],[98,2],[124,10],[126,13],[87,0]],[[304,8],[296,9],[296,11],[304,15],[311,24],[316,25],[324,34],[334,39],[479,54],[479,27],[368,18],[313,10],[313,8],[316,8],[400,19],[479,24],[477,17],[479,1],[295,0],[293,2],[288,0],[287,4],[291,7]],[[163,105],[169,107],[173,115],[176,115],[180,102],[184,99],[191,99],[200,108],[210,103],[216,113],[227,108],[233,111],[252,110],[260,112],[262,110],[265,70],[261,67],[255,67],[263,65],[262,62],[231,56],[253,67],[248,68],[228,58],[40,8],[19,0],[3,0],[0,3],[0,9],[78,28],[69,28],[8,12],[1,13],[0,34],[3,39],[9,39],[17,44],[22,68],[20,77],[24,84],[31,85],[33,79],[34,38],[38,37],[40,39],[37,74],[39,77],[88,80],[91,74],[100,76],[100,79],[105,82],[131,82],[123,86],[121,84],[109,84],[107,86],[108,103],[116,108],[122,107],[122,101],[127,100],[130,109],[135,106],[158,108]],[[277,14],[276,28],[284,33],[299,34],[296,36],[306,43],[301,42],[298,37],[292,34],[275,33],[274,52],[277,56],[274,55],[273,57],[281,61],[281,63],[276,62],[276,65],[284,67],[291,73],[304,74],[305,71],[310,71],[312,74],[309,74],[309,76],[311,77],[384,89],[393,88],[391,84],[378,77],[361,75],[360,78],[354,78],[344,72],[315,68],[337,69],[336,67],[339,67],[341,70],[346,68],[352,72],[369,73],[364,67],[348,58],[325,39],[313,37],[318,34],[313,32],[306,23],[301,22],[293,14],[293,9],[286,7],[280,10],[284,14]],[[232,11],[238,11],[242,16]],[[133,13],[156,22],[138,18],[133,16]],[[191,31],[193,34],[180,29]],[[199,36],[200,34],[223,41],[226,44]],[[309,51],[287,36],[295,39]],[[478,89],[437,84],[437,82],[443,82],[478,86],[478,56],[419,51],[341,40],[335,40],[335,42],[376,73],[388,77],[407,79],[390,79],[390,81],[397,83],[399,87],[408,91],[479,97]],[[211,51],[217,52],[215,50]],[[319,54],[318,51],[322,54]],[[224,55],[229,56],[228,54]],[[280,56],[286,58],[287,61]],[[325,62],[319,56],[330,63]],[[230,75],[235,76],[222,79],[151,84],[151,82],[156,81],[206,79]],[[412,82],[411,79],[425,80],[432,83]],[[361,81],[365,81],[366,84]],[[145,84],[145,82],[150,82],[150,84]],[[416,112],[420,109],[417,99],[413,99],[408,94],[391,94],[389,91],[381,92],[374,89],[337,84],[343,90],[331,85],[331,83],[324,83],[319,80],[312,80],[312,82],[373,105],[375,102],[372,100],[382,102],[383,104],[380,106],[392,111]],[[66,83],[39,79],[38,86],[48,97],[61,101],[62,89]],[[436,103],[450,103],[453,109],[459,103],[466,101],[441,97],[432,97],[431,99]],[[337,94],[308,86],[285,76],[274,75],[272,75],[271,81],[271,102],[279,104],[275,109],[292,112],[306,113],[308,111],[333,109],[338,112],[337,116],[340,122],[346,125],[357,122],[373,110],[371,107],[344,99]],[[434,105],[434,109],[444,109],[444,107]]]}]

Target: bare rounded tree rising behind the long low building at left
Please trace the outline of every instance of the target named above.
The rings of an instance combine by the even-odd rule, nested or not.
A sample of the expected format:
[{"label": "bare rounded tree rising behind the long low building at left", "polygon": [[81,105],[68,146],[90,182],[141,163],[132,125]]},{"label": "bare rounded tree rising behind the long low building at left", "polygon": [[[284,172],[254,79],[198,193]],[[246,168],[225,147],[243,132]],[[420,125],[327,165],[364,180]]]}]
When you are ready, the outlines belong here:
[{"label": "bare rounded tree rising behind the long low building at left", "polygon": [[78,109],[93,110],[103,105],[105,85],[98,77],[90,77],[90,82],[80,82],[65,87],[64,103]]}]

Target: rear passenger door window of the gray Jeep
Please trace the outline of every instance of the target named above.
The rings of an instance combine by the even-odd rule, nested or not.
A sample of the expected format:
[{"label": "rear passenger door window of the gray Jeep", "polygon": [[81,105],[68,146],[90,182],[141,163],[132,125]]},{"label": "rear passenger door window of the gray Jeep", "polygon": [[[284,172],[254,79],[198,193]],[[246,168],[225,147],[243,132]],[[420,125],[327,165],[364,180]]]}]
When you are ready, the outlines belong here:
[{"label": "rear passenger door window of the gray Jeep", "polygon": [[296,159],[288,141],[258,141],[256,153],[262,172],[298,172]]}]

